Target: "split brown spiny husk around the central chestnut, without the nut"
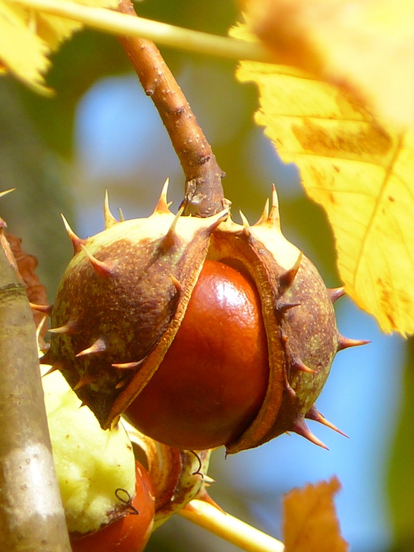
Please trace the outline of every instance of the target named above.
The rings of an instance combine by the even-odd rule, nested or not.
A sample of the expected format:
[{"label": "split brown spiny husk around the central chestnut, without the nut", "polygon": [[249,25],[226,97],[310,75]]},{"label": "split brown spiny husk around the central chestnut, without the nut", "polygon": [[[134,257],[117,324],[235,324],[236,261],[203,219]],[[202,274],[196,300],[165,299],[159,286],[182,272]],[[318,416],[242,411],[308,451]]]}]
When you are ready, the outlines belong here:
[{"label": "split brown spiny husk around the central chestnut, without the nut", "polygon": [[173,215],[166,189],[147,219],[118,222],[105,199],[107,229],[82,240],[67,226],[75,256],[52,312],[49,362],[97,416],[116,422],[160,365],[185,314],[205,258],[235,266],[256,285],[268,337],[268,391],[250,427],[227,453],[286,431],[324,446],[305,418],[335,428],[315,400],[337,351],[362,344],[339,335],[333,302],[314,265],[283,236],[277,194],[256,225],[227,211]]}]

